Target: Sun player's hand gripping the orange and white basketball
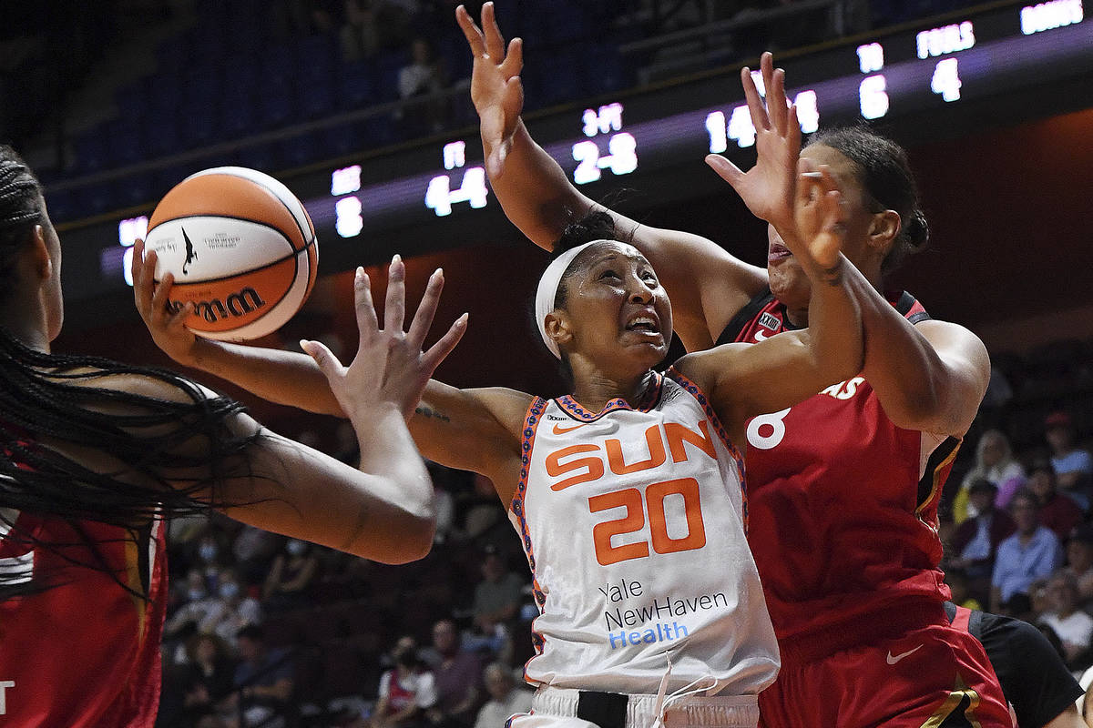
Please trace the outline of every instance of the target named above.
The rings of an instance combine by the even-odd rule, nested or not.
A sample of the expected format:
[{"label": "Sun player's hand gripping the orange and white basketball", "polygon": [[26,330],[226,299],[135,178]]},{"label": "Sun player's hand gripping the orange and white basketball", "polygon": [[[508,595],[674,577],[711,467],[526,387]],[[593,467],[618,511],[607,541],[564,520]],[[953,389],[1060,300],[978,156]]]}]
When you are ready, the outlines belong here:
[{"label": "Sun player's hand gripping the orange and white basketball", "polygon": [[155,283],[155,251],[150,250],[145,254],[143,240],[133,243],[130,273],[133,279],[133,302],[152,334],[152,341],[178,363],[192,366],[198,337],[186,327],[186,318],[193,312],[193,305],[187,302],[178,311],[167,308],[175,277],[167,273],[163,281]]}]

